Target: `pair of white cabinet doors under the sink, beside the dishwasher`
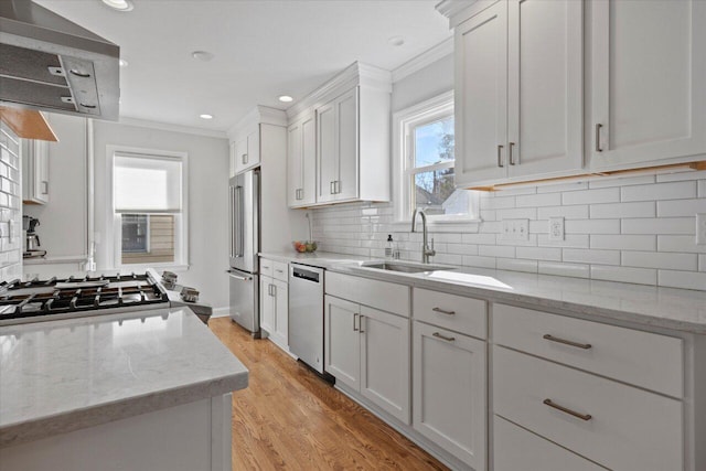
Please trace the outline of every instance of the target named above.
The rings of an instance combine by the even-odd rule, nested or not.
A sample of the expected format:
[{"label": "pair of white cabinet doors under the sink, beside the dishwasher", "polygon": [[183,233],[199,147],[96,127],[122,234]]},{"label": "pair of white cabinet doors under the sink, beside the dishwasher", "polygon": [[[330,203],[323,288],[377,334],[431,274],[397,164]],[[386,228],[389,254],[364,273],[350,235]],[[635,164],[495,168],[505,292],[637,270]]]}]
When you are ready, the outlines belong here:
[{"label": "pair of white cabinet doors under the sink, beside the dishwasher", "polygon": [[409,319],[325,297],[325,371],[409,424]]}]

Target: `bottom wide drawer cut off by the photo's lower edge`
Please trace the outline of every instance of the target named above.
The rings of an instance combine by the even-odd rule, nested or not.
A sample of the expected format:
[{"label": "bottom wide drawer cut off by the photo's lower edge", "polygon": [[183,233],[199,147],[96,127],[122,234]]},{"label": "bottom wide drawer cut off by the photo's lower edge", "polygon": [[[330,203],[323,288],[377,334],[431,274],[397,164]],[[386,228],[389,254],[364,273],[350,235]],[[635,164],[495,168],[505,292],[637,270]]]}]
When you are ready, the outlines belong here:
[{"label": "bottom wide drawer cut off by the photo's lower edge", "polygon": [[495,471],[600,471],[603,468],[495,416]]}]

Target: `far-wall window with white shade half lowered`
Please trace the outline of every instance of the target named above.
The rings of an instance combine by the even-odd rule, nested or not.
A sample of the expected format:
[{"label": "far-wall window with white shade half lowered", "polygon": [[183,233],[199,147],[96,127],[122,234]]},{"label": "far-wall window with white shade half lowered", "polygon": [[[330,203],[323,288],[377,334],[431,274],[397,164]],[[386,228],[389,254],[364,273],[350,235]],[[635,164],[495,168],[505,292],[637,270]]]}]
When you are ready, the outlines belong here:
[{"label": "far-wall window with white shade half lowered", "polygon": [[115,149],[109,154],[114,265],[185,265],[186,156],[125,149]]}]

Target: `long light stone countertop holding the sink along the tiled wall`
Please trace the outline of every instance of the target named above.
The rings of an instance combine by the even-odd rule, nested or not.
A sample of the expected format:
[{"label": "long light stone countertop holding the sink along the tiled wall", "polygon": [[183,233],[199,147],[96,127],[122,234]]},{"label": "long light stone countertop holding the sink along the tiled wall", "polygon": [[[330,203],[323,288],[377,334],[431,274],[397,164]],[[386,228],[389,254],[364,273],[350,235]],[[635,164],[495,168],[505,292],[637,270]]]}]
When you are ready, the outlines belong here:
[{"label": "long light stone countertop holding the sink along the tiled wall", "polygon": [[[381,259],[330,253],[260,255],[279,261],[302,263],[341,274],[577,314],[597,321],[621,321],[706,334],[706,291],[472,267],[403,274],[361,266],[366,261],[383,261]],[[395,261],[409,264],[406,260]]]}]

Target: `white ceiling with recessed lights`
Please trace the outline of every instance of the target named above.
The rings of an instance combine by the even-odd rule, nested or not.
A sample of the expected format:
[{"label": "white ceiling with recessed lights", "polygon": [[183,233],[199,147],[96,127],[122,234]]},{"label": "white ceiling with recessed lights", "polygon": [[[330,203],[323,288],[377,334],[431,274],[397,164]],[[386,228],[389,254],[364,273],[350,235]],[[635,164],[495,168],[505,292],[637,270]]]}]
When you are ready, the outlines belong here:
[{"label": "white ceiling with recessed lights", "polygon": [[286,109],[279,95],[296,103],[354,61],[392,71],[451,34],[438,0],[133,0],[130,12],[35,1],[120,46],[122,118],[212,131],[255,105]]}]

